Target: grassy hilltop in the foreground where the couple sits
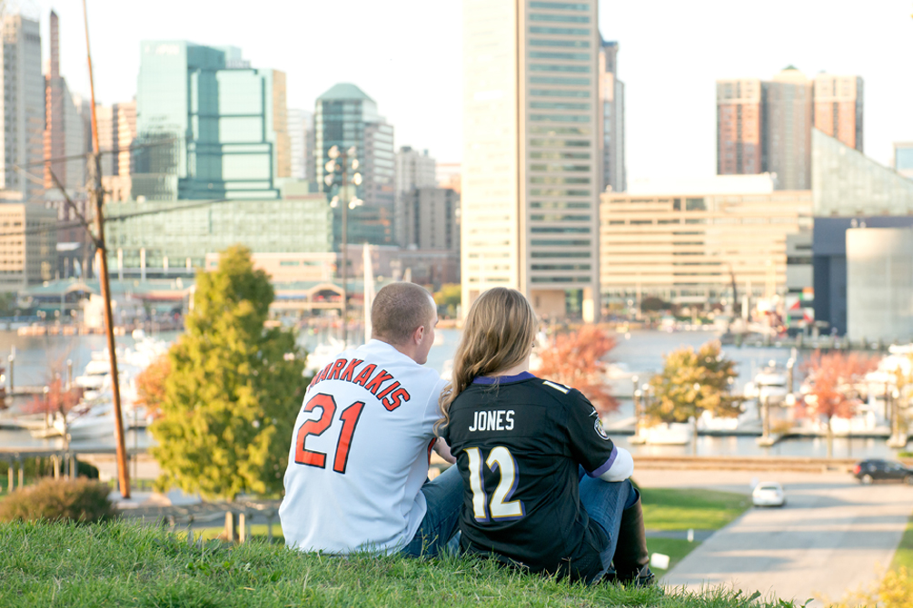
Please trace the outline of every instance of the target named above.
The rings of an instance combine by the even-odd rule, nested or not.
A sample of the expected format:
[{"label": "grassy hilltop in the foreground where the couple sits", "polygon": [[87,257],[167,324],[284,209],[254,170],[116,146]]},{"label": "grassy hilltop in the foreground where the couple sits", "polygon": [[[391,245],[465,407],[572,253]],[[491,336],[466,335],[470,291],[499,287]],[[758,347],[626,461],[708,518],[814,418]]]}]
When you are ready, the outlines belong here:
[{"label": "grassy hilltop in the foreground where the couple sits", "polygon": [[16,606],[657,606],[761,608],[750,592],[584,587],[464,558],[348,559],[249,542],[189,547],[113,521],[0,524],[0,605]]}]

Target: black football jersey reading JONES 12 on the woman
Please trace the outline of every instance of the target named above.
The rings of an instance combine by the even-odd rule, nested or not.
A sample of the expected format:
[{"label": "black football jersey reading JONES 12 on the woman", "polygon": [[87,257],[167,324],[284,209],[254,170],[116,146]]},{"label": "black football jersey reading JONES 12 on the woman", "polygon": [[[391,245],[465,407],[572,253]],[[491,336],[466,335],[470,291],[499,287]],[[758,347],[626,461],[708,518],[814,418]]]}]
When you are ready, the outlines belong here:
[{"label": "black football jersey reading JONES 12 on the woman", "polygon": [[602,527],[580,504],[579,466],[596,477],[617,450],[586,397],[525,372],[481,376],[442,431],[463,477],[462,547],[532,572],[602,569]]}]

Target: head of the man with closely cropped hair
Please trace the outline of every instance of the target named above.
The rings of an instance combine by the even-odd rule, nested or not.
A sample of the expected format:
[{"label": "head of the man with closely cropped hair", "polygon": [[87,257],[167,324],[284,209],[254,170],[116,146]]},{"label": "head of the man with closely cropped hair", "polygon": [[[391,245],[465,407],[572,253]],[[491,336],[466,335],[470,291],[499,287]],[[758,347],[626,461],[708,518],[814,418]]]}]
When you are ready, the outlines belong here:
[{"label": "head of the man with closely cropped hair", "polygon": [[415,283],[390,283],[374,296],[371,306],[372,337],[401,345],[436,313],[428,290]]}]

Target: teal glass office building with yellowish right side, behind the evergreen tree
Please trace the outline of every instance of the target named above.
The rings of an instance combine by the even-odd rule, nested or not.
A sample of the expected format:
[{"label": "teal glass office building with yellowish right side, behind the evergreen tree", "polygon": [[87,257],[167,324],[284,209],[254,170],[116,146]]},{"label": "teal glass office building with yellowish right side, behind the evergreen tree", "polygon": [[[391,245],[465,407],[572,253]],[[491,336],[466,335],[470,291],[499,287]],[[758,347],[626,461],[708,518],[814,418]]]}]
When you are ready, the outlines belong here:
[{"label": "teal glass office building with yellowish right side, behind the evergreen tree", "polygon": [[250,67],[238,48],[142,42],[132,198],[278,198],[286,111],[285,74]]}]

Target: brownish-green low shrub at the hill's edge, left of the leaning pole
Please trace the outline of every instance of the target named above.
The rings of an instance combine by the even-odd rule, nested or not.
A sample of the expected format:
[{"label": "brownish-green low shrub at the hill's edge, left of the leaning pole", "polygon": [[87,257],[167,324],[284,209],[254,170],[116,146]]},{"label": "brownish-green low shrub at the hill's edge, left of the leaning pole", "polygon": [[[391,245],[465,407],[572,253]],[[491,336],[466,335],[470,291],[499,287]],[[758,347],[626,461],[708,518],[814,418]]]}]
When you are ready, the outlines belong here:
[{"label": "brownish-green low shrub at the hill's edge, left of the leaning pole", "polygon": [[90,479],[42,479],[0,502],[0,521],[108,520],[116,514],[110,488]]}]

